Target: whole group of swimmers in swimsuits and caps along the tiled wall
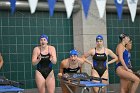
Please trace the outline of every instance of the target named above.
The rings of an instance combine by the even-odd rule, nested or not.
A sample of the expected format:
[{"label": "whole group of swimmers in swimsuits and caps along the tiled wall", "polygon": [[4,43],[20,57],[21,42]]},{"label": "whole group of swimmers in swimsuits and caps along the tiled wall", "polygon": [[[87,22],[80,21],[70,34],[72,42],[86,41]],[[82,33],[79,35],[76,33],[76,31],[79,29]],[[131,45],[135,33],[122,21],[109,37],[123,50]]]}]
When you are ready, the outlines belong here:
[{"label": "whole group of swimmers in swimsuits and caps along the tiled wall", "polygon": [[[116,63],[116,74],[120,77],[120,93],[136,93],[140,82],[140,77],[132,71],[131,54],[132,40],[126,34],[119,36],[120,43],[117,45],[116,53],[104,47],[102,35],[96,37],[96,46],[84,53],[81,57],[78,56],[78,51],[72,49],[70,57],[62,60],[60,63],[60,71],[58,77],[62,77],[66,73],[82,72],[82,65],[88,63],[91,65],[91,76],[105,78],[103,83],[108,84],[108,65]],[[108,56],[112,59],[108,60]],[[87,58],[92,57],[92,62]],[[54,46],[48,44],[47,35],[40,36],[40,45],[33,49],[32,64],[37,65],[35,71],[35,81],[39,93],[55,93],[55,76],[52,69],[52,64],[56,64],[57,56]],[[0,68],[3,64],[3,59],[0,54]],[[94,80],[94,82],[97,82]],[[70,93],[63,82],[60,82],[62,92]],[[76,87],[70,86],[75,91]],[[98,93],[99,88],[94,87],[93,93]],[[106,93],[106,87],[102,88],[102,93]]]}]

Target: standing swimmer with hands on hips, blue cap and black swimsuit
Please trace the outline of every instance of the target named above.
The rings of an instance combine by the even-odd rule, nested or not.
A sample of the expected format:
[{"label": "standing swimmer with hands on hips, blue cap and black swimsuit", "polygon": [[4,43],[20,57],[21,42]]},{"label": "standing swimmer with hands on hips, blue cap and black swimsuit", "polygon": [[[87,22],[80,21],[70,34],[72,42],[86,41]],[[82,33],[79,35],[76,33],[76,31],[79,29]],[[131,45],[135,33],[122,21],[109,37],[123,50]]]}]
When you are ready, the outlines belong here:
[{"label": "standing swimmer with hands on hips, blue cap and black swimsuit", "polygon": [[[112,58],[107,62],[108,55]],[[96,37],[96,46],[91,48],[87,53],[83,55],[83,58],[92,57],[92,71],[91,75],[93,77],[104,78],[102,83],[108,84],[108,64],[112,64],[118,60],[118,57],[110,49],[104,47],[103,36],[98,35]],[[94,82],[97,82],[94,80]],[[99,88],[93,88],[94,93],[98,93]],[[102,88],[102,93],[106,93],[106,87]]]}]

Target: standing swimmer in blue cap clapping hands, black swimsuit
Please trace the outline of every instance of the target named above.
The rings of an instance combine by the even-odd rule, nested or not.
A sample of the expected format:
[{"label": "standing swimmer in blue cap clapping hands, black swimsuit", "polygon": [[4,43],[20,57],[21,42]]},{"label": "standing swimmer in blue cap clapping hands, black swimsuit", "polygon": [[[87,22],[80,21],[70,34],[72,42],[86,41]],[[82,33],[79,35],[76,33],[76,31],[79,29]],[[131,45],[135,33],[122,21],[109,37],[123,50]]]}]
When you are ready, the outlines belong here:
[{"label": "standing swimmer in blue cap clapping hands, black swimsuit", "polygon": [[56,50],[54,46],[48,45],[48,37],[40,36],[40,45],[33,49],[32,64],[37,65],[35,81],[39,93],[55,93],[55,77],[52,64],[56,64]]}]

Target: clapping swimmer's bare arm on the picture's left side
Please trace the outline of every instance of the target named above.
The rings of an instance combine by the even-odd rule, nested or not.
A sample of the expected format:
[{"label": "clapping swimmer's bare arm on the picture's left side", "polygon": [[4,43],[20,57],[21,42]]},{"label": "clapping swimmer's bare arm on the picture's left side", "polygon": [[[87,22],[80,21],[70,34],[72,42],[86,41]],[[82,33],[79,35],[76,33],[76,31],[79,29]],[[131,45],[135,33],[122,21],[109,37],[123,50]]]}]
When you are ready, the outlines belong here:
[{"label": "clapping swimmer's bare arm on the picture's left side", "polygon": [[35,47],[32,53],[32,65],[37,65],[41,60],[41,56],[38,53],[38,47]]}]

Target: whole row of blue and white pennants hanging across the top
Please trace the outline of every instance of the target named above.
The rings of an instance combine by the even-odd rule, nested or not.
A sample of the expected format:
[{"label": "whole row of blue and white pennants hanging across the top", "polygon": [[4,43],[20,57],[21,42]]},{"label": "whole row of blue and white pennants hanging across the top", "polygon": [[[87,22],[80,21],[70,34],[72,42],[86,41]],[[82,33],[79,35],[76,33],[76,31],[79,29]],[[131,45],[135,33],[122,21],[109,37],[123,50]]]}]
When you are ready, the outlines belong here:
[{"label": "whole row of blue and white pennants hanging across the top", "polygon": [[[46,0],[46,1],[48,2],[47,4],[49,6],[50,16],[53,16],[55,4],[57,0]],[[75,0],[63,0],[63,1],[66,8],[67,18],[70,18],[73,8],[74,8]],[[80,1],[82,4],[82,9],[83,9],[85,18],[87,18],[91,0],[80,0]],[[100,18],[103,18],[106,11],[105,9],[106,9],[107,0],[95,0],[95,1],[96,1],[97,9],[99,11],[99,16]],[[9,0],[9,3],[10,3],[11,14],[13,14],[16,9],[16,0]],[[28,3],[29,3],[31,14],[35,13],[38,0],[28,0]],[[121,20],[122,14],[123,14],[124,0],[114,0],[114,3],[116,6],[118,19]],[[135,17],[136,17],[136,12],[137,12],[138,0],[127,0],[127,4],[128,4],[128,8],[131,15],[131,20],[132,22],[134,22]]]}]

